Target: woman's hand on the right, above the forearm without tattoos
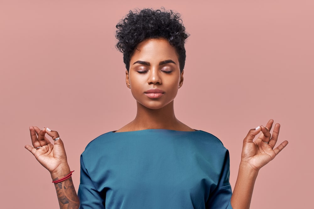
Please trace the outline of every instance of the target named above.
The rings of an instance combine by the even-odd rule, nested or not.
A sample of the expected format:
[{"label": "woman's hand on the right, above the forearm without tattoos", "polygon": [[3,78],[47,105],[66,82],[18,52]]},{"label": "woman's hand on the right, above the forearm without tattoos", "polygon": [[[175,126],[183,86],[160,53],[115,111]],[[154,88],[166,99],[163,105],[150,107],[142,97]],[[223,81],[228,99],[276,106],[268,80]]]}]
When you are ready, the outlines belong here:
[{"label": "woman's hand on the right, above the forearm without tattoos", "polygon": [[[288,144],[288,141],[282,142],[274,149],[279,135],[280,124],[276,123],[273,129],[273,134],[270,134],[272,126],[273,120],[271,119],[265,127],[259,126],[249,131],[243,140],[241,163],[248,164],[253,170],[258,171],[284,149]],[[262,133],[253,142],[255,136],[261,131]]]}]

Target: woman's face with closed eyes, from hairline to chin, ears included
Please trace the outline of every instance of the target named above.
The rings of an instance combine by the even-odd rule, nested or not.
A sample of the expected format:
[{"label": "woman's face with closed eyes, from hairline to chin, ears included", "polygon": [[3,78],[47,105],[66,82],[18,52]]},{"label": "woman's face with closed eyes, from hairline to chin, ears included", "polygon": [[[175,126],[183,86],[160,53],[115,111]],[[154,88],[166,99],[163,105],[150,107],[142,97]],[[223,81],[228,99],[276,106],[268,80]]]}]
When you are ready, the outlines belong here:
[{"label": "woman's face with closed eyes, from hairline to chin, ears included", "polygon": [[183,83],[178,55],[165,39],[146,39],[138,44],[126,71],[127,87],[137,102],[160,109],[174,100]]}]

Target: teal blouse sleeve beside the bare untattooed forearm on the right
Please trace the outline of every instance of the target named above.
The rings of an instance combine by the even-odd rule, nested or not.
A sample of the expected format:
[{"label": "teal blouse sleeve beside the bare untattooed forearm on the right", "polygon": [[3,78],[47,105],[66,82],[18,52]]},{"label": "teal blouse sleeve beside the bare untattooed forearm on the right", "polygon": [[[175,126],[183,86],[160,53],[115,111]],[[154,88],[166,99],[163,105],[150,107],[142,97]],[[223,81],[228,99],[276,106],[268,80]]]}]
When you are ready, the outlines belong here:
[{"label": "teal blouse sleeve beside the bare untattooed forearm on the right", "polygon": [[229,151],[226,151],[224,165],[217,188],[209,195],[206,202],[206,208],[210,209],[232,209],[230,200],[232,195],[230,177],[230,157]]}]

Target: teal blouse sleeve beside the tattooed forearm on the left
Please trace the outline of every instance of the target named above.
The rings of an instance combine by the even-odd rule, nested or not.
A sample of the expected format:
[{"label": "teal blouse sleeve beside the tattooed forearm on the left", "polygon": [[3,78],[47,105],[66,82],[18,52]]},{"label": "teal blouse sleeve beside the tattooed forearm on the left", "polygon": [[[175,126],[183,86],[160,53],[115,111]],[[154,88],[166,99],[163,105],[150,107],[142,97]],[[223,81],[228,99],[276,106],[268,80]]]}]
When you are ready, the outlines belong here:
[{"label": "teal blouse sleeve beside the tattooed forearm on the left", "polygon": [[97,191],[93,181],[90,179],[85,168],[83,156],[81,155],[81,174],[78,187],[79,209],[105,208],[105,198]]}]

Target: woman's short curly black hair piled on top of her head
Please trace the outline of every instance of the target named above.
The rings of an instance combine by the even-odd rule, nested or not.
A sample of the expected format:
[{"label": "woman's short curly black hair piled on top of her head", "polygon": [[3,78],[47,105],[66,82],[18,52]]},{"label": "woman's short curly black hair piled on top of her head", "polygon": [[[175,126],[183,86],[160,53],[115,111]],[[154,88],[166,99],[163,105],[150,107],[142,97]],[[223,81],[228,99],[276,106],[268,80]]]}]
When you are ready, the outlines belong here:
[{"label": "woman's short curly black hair piled on top of her head", "polygon": [[181,15],[165,8],[129,11],[126,17],[116,25],[116,48],[123,53],[123,62],[127,71],[136,46],[145,39],[164,38],[176,49],[180,71],[183,71],[186,59],[185,41],[190,34],[185,32]]}]

